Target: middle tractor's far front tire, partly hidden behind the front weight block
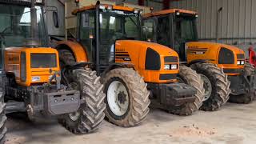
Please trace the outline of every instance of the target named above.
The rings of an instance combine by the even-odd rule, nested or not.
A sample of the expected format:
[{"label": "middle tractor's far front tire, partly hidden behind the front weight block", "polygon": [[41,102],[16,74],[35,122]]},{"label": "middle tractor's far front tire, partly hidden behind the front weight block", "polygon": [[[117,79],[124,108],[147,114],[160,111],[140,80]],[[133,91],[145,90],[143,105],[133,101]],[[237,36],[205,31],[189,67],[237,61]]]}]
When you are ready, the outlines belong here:
[{"label": "middle tractor's far front tire, partly hidden behind the front weight block", "polygon": [[193,103],[187,103],[186,106],[182,110],[178,110],[174,112],[174,114],[179,115],[190,115],[193,112],[199,110],[202,106],[202,100],[204,98],[204,91],[203,88],[203,81],[199,74],[196,71],[192,70],[190,67],[187,66],[180,66],[179,67],[179,74],[178,74],[179,82],[186,83],[187,85],[193,86],[197,93],[194,95],[196,98]]}]

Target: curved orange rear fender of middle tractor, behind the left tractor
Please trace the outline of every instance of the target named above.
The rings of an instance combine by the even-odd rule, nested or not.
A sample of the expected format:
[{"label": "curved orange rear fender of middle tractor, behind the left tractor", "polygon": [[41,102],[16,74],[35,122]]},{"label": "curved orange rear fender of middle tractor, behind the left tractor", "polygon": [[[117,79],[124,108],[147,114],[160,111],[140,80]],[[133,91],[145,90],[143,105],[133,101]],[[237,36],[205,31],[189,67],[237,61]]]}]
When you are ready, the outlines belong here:
[{"label": "curved orange rear fender of middle tractor, behind the left tractor", "polygon": [[66,46],[70,47],[70,49],[74,53],[76,62],[88,62],[88,58],[86,56],[85,49],[78,42],[60,41],[57,44],[58,45],[66,45]]}]

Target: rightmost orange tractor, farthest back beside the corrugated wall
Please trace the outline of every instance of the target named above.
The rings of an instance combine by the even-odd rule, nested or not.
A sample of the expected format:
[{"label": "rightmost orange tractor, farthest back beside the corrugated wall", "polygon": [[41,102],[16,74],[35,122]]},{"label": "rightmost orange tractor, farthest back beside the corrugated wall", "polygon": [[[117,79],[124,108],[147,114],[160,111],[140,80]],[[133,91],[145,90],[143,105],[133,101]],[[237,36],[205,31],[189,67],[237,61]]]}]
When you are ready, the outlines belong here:
[{"label": "rightmost orange tractor, farthest back beside the corrugated wall", "polygon": [[193,11],[178,9],[145,14],[144,38],[171,47],[184,65],[202,75],[206,90],[202,110],[218,110],[229,98],[230,102],[253,101],[254,69],[246,65],[244,51],[220,43],[198,42],[197,18]]}]

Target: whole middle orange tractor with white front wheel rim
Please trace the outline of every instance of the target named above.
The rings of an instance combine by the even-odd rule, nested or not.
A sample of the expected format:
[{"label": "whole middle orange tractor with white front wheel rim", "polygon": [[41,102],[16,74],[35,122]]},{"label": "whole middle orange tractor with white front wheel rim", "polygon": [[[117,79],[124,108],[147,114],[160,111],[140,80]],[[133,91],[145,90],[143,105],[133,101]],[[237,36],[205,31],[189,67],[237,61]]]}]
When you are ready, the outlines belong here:
[{"label": "whole middle orange tractor with white front wheel rim", "polygon": [[[202,105],[200,76],[188,67],[179,66],[174,50],[140,41],[139,10],[97,2],[73,10],[73,14],[78,18],[77,36],[56,46],[62,66],[92,62],[92,69],[102,77],[105,113],[110,122],[137,126],[146,118],[150,101],[181,115],[192,114]],[[184,72],[179,74],[181,67]],[[178,83],[177,75],[196,88]]]}]

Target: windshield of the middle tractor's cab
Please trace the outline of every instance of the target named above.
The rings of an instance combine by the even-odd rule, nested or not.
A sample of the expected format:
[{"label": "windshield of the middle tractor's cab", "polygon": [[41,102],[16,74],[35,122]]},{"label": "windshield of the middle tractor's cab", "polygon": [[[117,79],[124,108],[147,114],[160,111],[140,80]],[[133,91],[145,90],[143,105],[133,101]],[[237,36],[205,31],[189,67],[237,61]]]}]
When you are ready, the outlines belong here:
[{"label": "windshield of the middle tractor's cab", "polygon": [[121,10],[102,11],[99,15],[100,41],[141,40],[139,14]]}]

